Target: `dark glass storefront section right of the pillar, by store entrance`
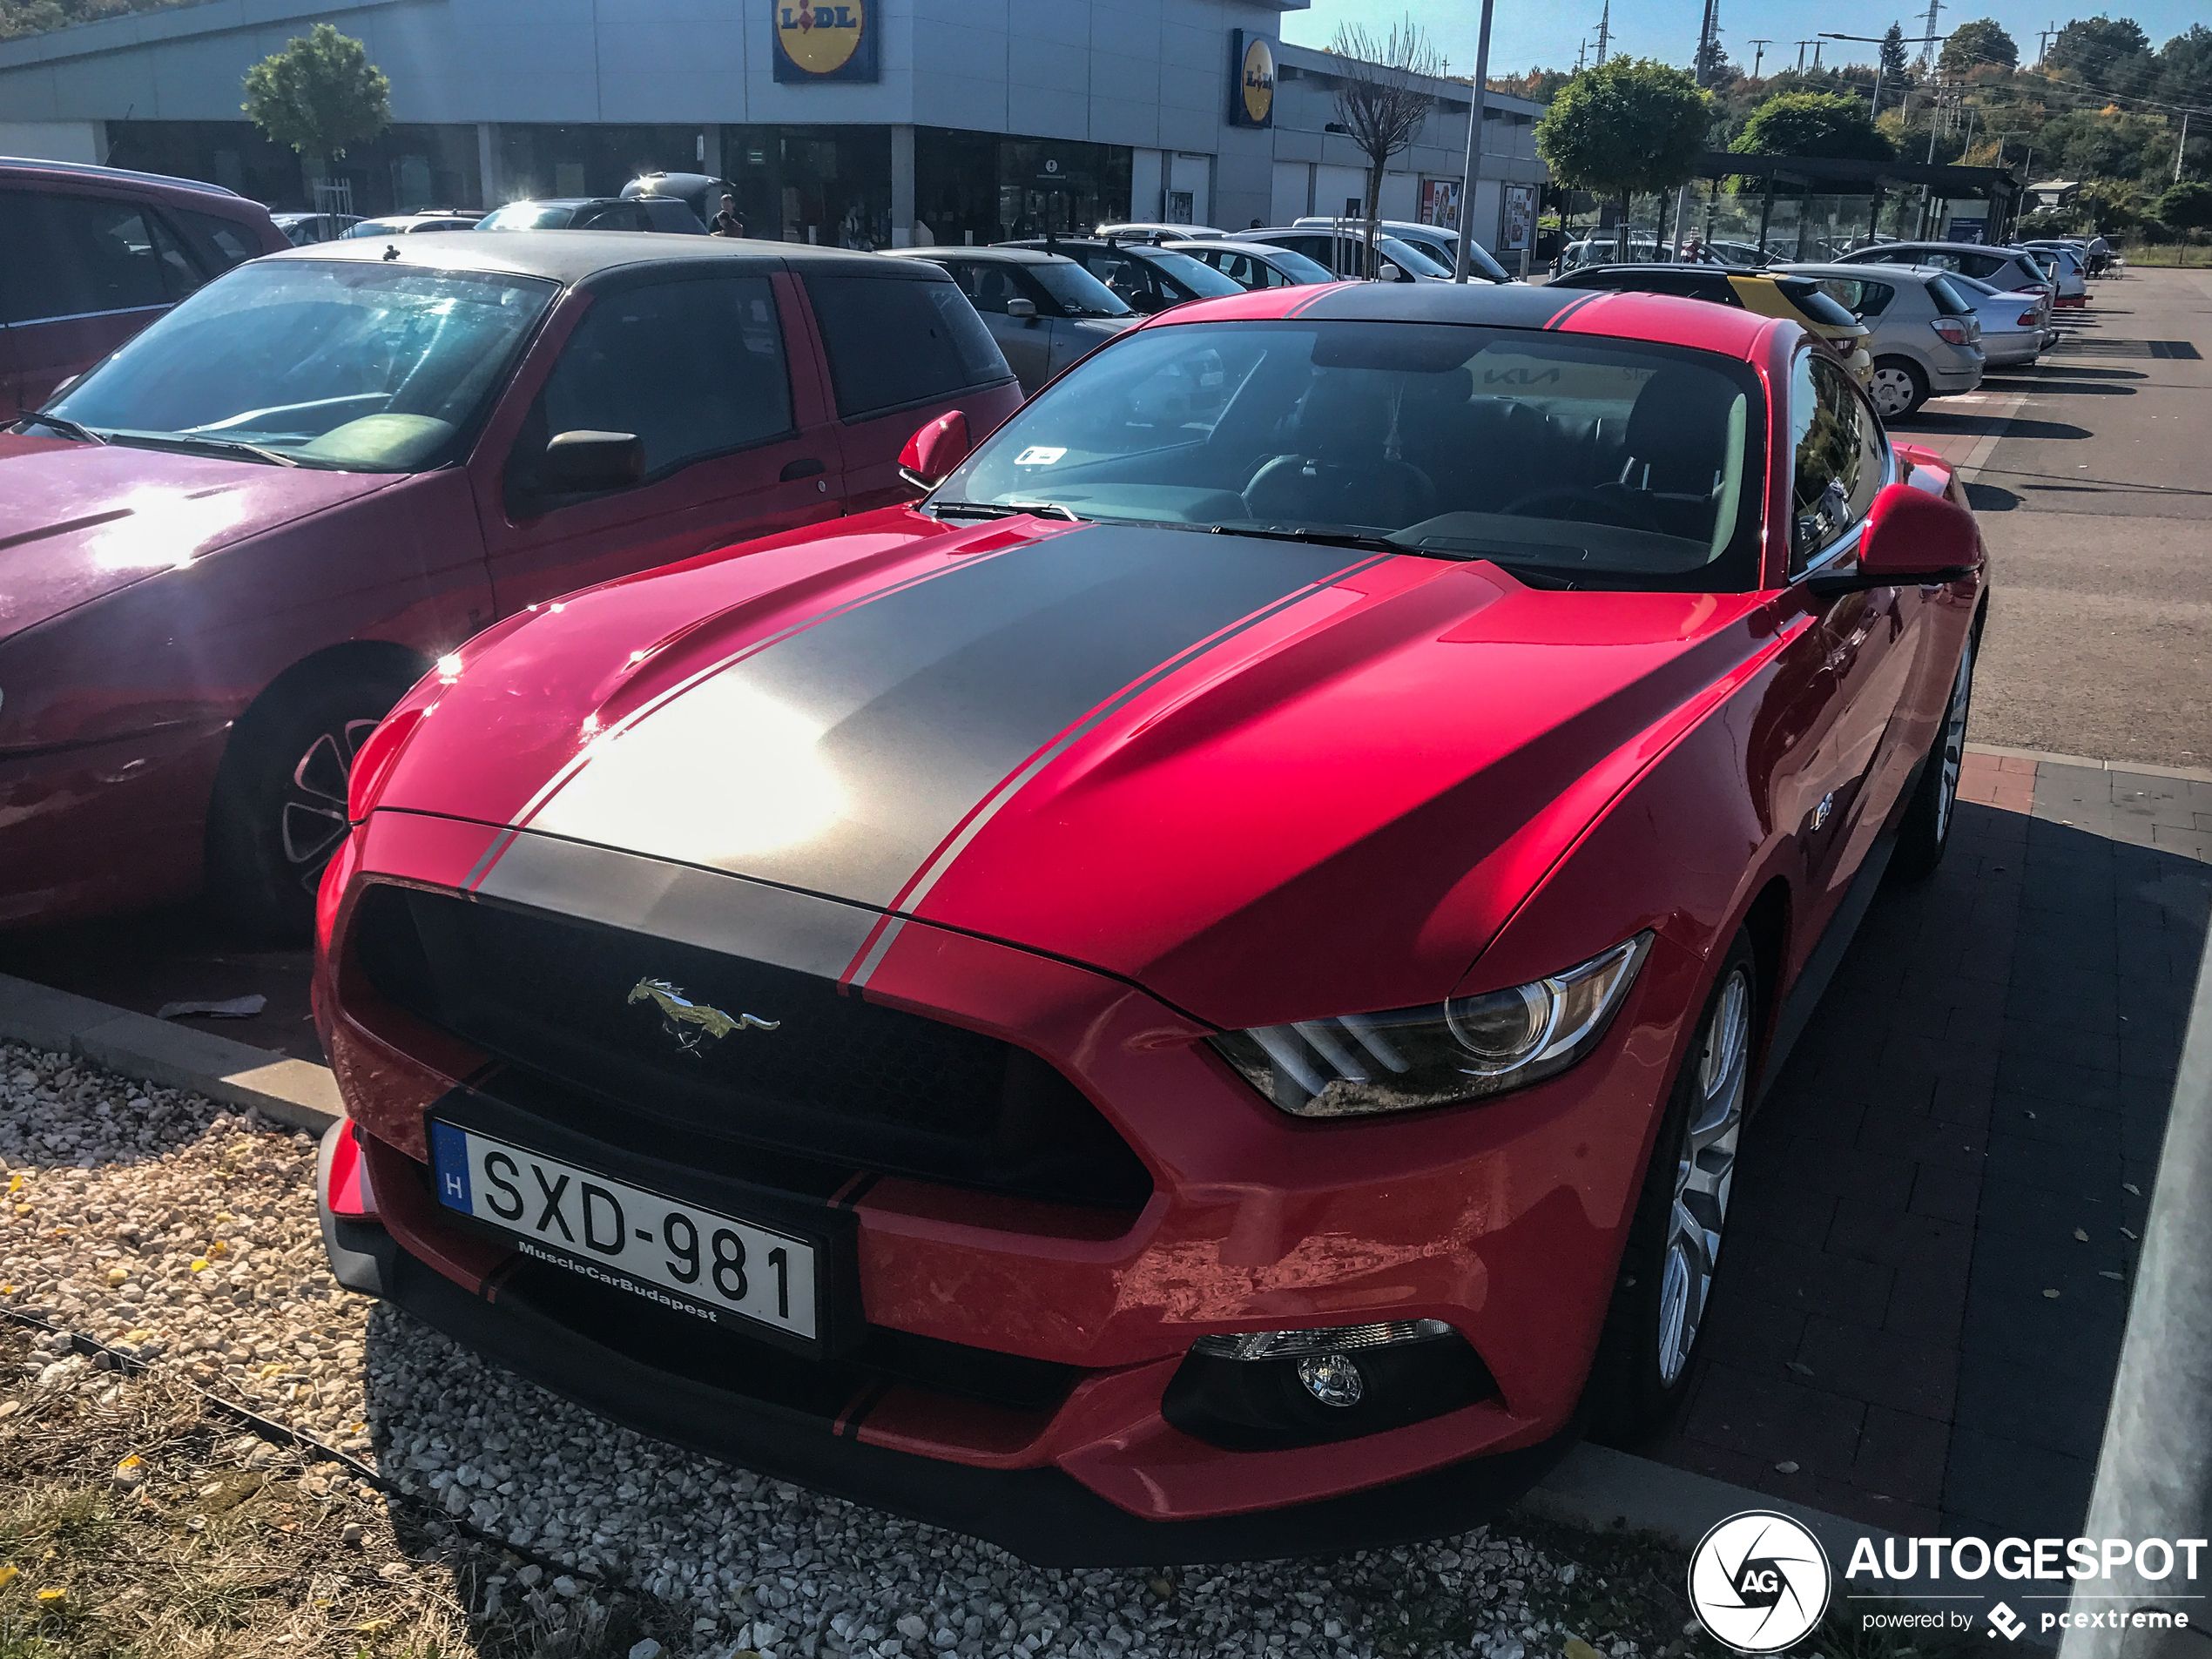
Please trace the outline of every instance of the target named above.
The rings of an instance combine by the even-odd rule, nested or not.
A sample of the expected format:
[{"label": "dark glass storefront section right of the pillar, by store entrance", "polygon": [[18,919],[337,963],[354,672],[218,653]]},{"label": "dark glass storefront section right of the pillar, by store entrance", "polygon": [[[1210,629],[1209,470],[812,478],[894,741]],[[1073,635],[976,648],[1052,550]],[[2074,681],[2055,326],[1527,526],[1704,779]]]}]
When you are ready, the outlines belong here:
[{"label": "dark glass storefront section right of the pillar, by store entrance", "polygon": [[1130,157],[1124,144],[918,126],[914,217],[936,243],[1084,234],[1128,217]]}]

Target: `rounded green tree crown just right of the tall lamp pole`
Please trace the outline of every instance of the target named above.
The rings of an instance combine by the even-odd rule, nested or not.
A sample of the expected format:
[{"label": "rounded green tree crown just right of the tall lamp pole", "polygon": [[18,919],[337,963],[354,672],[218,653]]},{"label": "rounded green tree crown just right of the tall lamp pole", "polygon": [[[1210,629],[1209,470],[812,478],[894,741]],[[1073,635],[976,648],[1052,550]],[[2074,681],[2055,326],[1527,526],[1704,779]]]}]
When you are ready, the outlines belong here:
[{"label": "rounded green tree crown just right of the tall lamp pole", "polygon": [[1712,97],[1690,71],[1652,58],[1608,58],[1575,75],[1535,124],[1553,177],[1621,204],[1672,190],[1705,153]]}]

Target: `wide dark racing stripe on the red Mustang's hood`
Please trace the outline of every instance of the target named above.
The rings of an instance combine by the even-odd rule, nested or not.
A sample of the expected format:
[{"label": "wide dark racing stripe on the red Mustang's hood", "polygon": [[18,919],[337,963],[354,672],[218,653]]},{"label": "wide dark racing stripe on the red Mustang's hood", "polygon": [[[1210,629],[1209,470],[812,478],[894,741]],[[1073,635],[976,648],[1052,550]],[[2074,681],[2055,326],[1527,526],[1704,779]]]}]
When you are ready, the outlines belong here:
[{"label": "wide dark racing stripe on the red Mustang's hood", "polygon": [[1091,524],[958,564],[695,681],[520,827],[891,909],[1086,714],[1374,562]]}]

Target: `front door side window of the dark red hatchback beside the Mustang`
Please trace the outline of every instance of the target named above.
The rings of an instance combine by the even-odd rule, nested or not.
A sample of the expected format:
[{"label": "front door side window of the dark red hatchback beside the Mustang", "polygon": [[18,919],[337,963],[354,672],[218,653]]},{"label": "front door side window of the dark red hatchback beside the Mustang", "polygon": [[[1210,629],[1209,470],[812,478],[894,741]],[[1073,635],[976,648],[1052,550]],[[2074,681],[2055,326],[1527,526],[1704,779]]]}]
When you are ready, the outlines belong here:
[{"label": "front door side window of the dark red hatchback beside the Mustang", "polygon": [[538,394],[533,429],[540,416],[540,445],[562,431],[635,431],[648,478],[790,431],[792,383],[768,279],[599,294]]}]

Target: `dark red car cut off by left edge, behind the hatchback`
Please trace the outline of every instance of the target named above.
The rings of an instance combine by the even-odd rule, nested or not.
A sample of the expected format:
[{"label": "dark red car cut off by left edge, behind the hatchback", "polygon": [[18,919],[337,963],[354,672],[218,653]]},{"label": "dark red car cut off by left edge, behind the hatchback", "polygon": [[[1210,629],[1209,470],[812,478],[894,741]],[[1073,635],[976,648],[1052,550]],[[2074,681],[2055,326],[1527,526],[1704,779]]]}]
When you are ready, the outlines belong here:
[{"label": "dark red car cut off by left edge, behind the hatchback", "polygon": [[219,184],[0,157],[0,420],[257,254],[290,248]]}]

